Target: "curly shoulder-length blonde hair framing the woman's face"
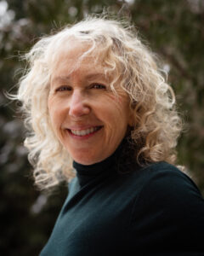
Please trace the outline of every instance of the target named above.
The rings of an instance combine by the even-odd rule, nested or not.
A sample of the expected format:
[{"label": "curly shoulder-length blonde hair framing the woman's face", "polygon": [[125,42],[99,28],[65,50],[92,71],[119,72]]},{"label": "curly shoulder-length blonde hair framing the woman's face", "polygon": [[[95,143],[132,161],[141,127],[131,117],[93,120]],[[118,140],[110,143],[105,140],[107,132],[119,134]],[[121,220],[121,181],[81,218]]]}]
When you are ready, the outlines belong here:
[{"label": "curly shoulder-length blonde hair framing the woman's face", "polygon": [[49,82],[54,62],[61,49],[71,49],[72,39],[103,54],[105,73],[113,72],[116,81],[127,92],[133,111],[132,142],[136,159],[143,162],[165,160],[175,163],[181,120],[175,108],[173,89],[167,84],[156,57],[141,43],[133,26],[116,20],[88,17],[73,26],[41,38],[26,54],[28,67],[20,79],[15,99],[22,102],[25,124],[29,131],[25,140],[34,177],[40,189],[48,189],[76,173],[72,159],[52,131],[48,114]]}]

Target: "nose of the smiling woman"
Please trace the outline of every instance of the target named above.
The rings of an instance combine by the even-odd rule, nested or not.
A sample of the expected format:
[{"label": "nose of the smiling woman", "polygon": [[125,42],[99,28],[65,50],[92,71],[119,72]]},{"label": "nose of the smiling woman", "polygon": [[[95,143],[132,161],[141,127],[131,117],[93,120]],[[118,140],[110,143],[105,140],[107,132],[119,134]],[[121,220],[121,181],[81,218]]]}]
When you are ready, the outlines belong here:
[{"label": "nose of the smiling woman", "polygon": [[86,96],[82,95],[81,91],[78,90],[73,91],[69,107],[69,115],[71,117],[81,117],[90,113],[88,99],[86,98]]}]

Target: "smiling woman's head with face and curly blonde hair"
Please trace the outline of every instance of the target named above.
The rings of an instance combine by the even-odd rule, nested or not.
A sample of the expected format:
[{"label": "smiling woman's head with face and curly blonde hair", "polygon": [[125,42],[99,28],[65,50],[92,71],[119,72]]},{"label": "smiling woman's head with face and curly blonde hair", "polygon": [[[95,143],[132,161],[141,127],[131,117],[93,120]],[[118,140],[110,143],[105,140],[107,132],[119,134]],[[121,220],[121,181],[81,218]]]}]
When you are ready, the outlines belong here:
[{"label": "smiling woman's head with face and curly blonde hair", "polygon": [[[73,177],[72,158],[92,164],[108,157],[127,127],[138,161],[173,163],[181,129],[173,90],[130,27],[88,18],[42,38],[26,56],[30,68],[18,99],[38,185]],[[79,137],[83,133],[89,138]]]}]

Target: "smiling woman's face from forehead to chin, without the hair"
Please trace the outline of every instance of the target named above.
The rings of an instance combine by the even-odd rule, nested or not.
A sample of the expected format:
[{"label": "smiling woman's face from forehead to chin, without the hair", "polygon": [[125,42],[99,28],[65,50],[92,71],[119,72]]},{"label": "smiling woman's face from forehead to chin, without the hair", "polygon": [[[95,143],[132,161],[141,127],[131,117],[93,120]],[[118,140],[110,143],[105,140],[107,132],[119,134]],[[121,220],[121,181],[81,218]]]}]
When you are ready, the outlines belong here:
[{"label": "smiling woman's face from forehead to chin, without the hair", "polygon": [[119,86],[117,96],[113,93],[111,78],[95,64],[94,54],[76,66],[85,48],[77,42],[73,45],[59,55],[52,73],[48,113],[55,135],[71,157],[91,165],[114,153],[125,137],[129,101]]}]

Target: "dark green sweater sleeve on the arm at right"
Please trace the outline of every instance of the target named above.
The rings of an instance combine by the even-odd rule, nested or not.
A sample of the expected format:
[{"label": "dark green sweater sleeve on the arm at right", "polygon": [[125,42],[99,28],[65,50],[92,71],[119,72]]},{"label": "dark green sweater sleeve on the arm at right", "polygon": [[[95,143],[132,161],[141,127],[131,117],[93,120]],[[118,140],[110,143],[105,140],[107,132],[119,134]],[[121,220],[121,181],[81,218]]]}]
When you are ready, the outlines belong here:
[{"label": "dark green sweater sleeve on the arm at right", "polygon": [[204,200],[195,183],[173,166],[148,175],[133,206],[131,247],[150,255],[204,255]]}]

